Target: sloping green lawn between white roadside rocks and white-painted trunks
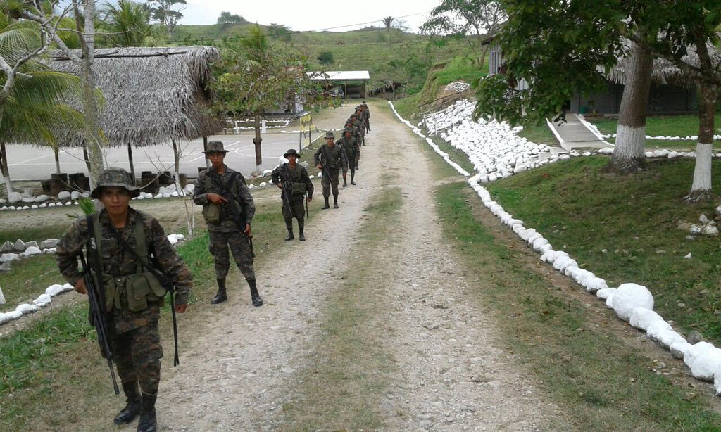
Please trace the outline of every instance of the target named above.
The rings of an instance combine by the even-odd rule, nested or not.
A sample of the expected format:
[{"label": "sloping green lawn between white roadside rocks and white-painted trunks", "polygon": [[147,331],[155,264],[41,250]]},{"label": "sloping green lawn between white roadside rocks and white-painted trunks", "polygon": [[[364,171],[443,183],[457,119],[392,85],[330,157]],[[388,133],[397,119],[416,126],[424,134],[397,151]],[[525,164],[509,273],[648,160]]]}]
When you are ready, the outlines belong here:
[{"label": "sloping green lawn between white roadside rocks and white-painted trunks", "polygon": [[[652,161],[633,176],[599,173],[607,158],[554,163],[490,184],[494,199],[611,286],[635,282],[654,294],[655,310],[684,332],[721,343],[718,238],[689,241],[678,220],[714,215],[718,202],[686,204],[694,161]],[[713,183],[721,163],[713,162]],[[603,253],[603,249],[608,252]],[[687,253],[691,259],[684,259]],[[683,303],[686,307],[680,307]]]}]

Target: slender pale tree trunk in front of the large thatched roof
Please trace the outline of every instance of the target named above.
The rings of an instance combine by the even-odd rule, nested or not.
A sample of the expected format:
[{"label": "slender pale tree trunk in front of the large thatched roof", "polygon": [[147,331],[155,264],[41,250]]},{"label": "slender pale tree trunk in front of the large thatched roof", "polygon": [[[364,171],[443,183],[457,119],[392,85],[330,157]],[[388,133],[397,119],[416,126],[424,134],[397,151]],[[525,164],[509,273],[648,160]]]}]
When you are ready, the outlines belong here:
[{"label": "slender pale tree trunk in front of the large thatched roof", "polygon": [[87,144],[87,161],[90,171],[91,189],[97,184],[103,168],[102,135],[99,127],[99,114],[96,97],[96,79],[92,70],[95,52],[95,0],[84,0],[85,29],[83,33],[83,58],[81,81],[83,86],[82,104],[85,119],[85,139]]}]

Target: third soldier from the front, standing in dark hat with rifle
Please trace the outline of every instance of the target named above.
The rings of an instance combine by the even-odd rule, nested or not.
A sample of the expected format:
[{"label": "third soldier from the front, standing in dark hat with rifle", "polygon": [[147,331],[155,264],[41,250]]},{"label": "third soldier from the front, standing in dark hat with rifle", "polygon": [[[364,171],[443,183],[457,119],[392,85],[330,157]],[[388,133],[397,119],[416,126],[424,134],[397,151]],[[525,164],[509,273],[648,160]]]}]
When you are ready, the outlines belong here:
[{"label": "third soldier from the front, standing in dark hat with rifle", "polygon": [[[304,218],[306,210],[303,207],[304,200],[311,202],[313,199],[313,182],[308,176],[308,171],[298,164],[298,152],[291,148],[283,155],[288,163],[275,167],[272,178],[273,184],[283,189],[280,199],[283,200],[283,219],[286,220],[288,236],[286,241],[293,240],[293,217],[298,220],[298,239],[306,240],[303,233]],[[286,190],[286,188],[288,190]]]}]

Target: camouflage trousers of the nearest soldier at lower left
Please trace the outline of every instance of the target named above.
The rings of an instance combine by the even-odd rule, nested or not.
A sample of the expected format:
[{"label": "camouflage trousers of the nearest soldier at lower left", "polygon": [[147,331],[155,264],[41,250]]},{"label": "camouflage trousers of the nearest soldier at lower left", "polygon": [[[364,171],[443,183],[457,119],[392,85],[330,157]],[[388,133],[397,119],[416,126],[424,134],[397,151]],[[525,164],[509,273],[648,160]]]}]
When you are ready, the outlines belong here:
[{"label": "camouflage trousers of the nearest soldier at lower left", "polygon": [[160,384],[160,345],[158,322],[154,321],[125,333],[108,326],[110,349],[120,382],[138,382],[146,395],[156,395]]}]

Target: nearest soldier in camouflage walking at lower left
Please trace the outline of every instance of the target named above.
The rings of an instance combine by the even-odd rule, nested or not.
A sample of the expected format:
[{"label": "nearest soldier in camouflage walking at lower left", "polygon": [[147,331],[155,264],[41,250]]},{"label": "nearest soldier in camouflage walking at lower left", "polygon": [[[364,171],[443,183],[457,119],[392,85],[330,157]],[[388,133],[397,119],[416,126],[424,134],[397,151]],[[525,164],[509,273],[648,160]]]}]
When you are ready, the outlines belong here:
[{"label": "nearest soldier in camouflage walking at lower left", "polygon": [[[172,280],[176,312],[185,312],[187,308],[193,276],[170,245],[158,220],[129,206],[131,198],[137,196],[138,188],[131,186],[131,176],[125,170],[102,171],[92,197],[99,199],[105,209],[89,217],[79,217],[61,238],[56,254],[61,274],[77,292],[87,294],[84,279],[78,272],[78,255],[87,243],[94,245],[91,250],[97,253],[88,253],[89,265],[102,281],[108,343],[128,398],[114,422],[131,423],[140,414],[138,431],[150,432],[157,428],[155,401],[163,356],[158,319],[165,289],[159,282],[149,282],[149,273],[143,273],[148,270],[122,246],[117,236],[143,261],[158,266],[158,270]],[[140,273],[145,279],[138,282]],[[139,290],[145,295],[136,294]]]}]

